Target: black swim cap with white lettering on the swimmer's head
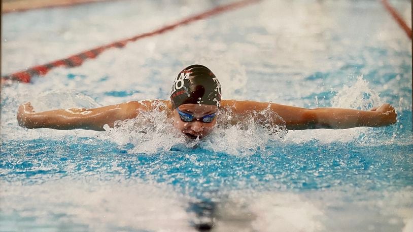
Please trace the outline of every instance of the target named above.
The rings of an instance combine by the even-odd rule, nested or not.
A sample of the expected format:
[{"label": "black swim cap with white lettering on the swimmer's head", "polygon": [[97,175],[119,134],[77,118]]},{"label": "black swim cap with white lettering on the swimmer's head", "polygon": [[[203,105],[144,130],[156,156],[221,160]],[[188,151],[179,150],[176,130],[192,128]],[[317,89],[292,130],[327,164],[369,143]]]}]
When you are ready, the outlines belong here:
[{"label": "black swim cap with white lettering on the swimmer's head", "polygon": [[212,71],[194,64],[182,70],[170,90],[173,109],[182,104],[205,104],[219,106],[221,85]]}]

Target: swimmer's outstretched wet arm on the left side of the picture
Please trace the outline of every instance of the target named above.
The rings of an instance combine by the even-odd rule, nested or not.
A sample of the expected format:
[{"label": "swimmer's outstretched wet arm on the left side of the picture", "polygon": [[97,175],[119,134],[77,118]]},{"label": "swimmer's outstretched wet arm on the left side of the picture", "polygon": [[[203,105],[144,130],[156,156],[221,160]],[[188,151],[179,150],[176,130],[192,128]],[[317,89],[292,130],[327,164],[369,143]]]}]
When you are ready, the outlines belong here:
[{"label": "swimmer's outstretched wet arm on the left side of the picture", "polygon": [[[117,105],[99,108],[57,109],[35,112],[30,103],[23,104],[18,109],[17,121],[21,127],[52,128],[58,130],[88,129],[104,131],[103,126],[113,127],[115,121],[133,119],[139,110],[147,110],[146,101],[130,101]],[[150,105],[150,104],[149,104]]]}]

